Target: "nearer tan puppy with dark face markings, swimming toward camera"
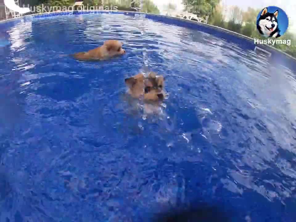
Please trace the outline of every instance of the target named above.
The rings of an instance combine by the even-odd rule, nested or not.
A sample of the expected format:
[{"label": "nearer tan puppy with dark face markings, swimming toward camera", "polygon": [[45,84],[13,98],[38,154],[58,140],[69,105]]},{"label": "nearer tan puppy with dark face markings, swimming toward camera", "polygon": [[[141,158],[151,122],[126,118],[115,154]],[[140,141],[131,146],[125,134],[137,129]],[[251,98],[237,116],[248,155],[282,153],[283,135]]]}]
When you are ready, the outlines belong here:
[{"label": "nearer tan puppy with dark face markings, swimming toward camera", "polygon": [[128,93],[135,99],[142,99],[144,102],[144,113],[158,113],[160,104],[165,99],[164,77],[156,76],[150,72],[148,77],[137,74],[125,79]]}]

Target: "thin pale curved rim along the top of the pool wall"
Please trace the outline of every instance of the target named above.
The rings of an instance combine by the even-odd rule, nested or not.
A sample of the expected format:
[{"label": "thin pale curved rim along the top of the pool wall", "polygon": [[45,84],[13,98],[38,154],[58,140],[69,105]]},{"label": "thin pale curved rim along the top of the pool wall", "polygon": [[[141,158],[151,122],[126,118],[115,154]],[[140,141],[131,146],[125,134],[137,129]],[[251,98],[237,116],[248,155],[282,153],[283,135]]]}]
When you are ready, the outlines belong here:
[{"label": "thin pale curved rim along the top of the pool wall", "polygon": [[[108,13],[109,14],[145,14],[145,15],[147,14],[147,15],[152,15],[152,16],[155,16],[155,17],[163,17],[163,18],[168,18],[168,19],[174,19],[174,20],[178,20],[178,21],[184,22],[184,23],[191,23],[191,24],[195,24],[195,25],[197,24],[197,25],[201,25],[201,26],[204,26],[204,27],[212,28],[214,30],[226,32],[229,35],[234,35],[234,36],[239,37],[241,39],[245,39],[247,41],[250,41],[255,46],[254,51],[256,50],[256,48],[259,48],[259,50],[261,50],[261,51],[265,51],[265,52],[267,51],[267,52],[271,53],[270,51],[266,50],[268,48],[271,51],[276,51],[278,53],[281,53],[282,55],[285,55],[289,59],[292,59],[292,60],[296,61],[296,58],[293,57],[292,55],[289,55],[286,52],[283,52],[283,51],[279,50],[278,48],[272,47],[272,46],[270,46],[268,44],[264,44],[264,45],[256,44],[256,43],[254,43],[253,38],[251,38],[249,36],[246,36],[246,35],[242,35],[241,33],[237,33],[237,32],[234,32],[234,31],[231,31],[231,30],[228,30],[228,29],[224,29],[224,28],[219,27],[219,26],[210,25],[208,23],[195,22],[195,21],[191,21],[191,20],[188,20],[188,19],[182,19],[182,18],[172,17],[172,16],[168,16],[168,15],[162,15],[162,14],[153,14],[153,13],[146,13],[146,12],[134,12],[134,11],[121,11],[121,10],[66,10],[66,11],[52,11],[52,12],[43,12],[43,13],[36,13],[36,14],[21,15],[19,17],[15,17],[15,18],[11,18],[11,19],[4,19],[4,20],[0,21],[0,24],[1,23],[7,23],[7,22],[10,22],[10,21],[13,21],[13,20],[19,20],[19,19],[22,19],[22,18],[32,17],[32,19],[35,19],[36,17],[34,18],[34,16],[40,16],[40,15],[43,15],[43,14],[53,14],[51,16],[70,15],[70,14],[71,15],[79,15],[80,13],[75,13],[75,12],[94,12],[94,11],[96,11],[96,12],[104,12],[104,14],[108,14]],[[69,13],[69,14],[63,14],[63,13]],[[39,17],[37,17],[37,18],[39,18]],[[162,21],[162,22],[166,23],[164,21]]]}]

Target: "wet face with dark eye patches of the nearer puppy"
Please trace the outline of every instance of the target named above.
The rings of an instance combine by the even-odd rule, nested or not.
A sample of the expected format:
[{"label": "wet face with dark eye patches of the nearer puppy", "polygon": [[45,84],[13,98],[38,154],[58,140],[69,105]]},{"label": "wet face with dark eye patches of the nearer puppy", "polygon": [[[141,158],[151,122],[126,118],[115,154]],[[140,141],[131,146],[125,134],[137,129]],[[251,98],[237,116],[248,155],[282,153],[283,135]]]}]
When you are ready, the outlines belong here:
[{"label": "wet face with dark eye patches of the nearer puppy", "polygon": [[144,100],[162,101],[165,97],[163,89],[163,76],[156,76],[154,72],[150,72],[149,76],[144,80]]}]

